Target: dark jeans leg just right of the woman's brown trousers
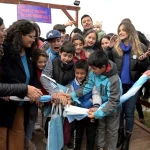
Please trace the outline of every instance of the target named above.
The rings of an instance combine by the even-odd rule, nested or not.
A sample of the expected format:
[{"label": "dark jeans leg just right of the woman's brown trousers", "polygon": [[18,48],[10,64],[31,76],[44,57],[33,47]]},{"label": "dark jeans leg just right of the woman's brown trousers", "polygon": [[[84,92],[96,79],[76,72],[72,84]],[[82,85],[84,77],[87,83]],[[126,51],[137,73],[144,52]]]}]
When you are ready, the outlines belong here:
[{"label": "dark jeans leg just right of the woman's brown trousers", "polygon": [[31,140],[32,139],[32,134],[34,131],[34,125],[37,119],[37,115],[38,115],[38,106],[36,104],[30,104],[29,107],[29,121],[27,124],[27,129],[26,129],[26,133],[25,133],[25,139],[26,141]]}]

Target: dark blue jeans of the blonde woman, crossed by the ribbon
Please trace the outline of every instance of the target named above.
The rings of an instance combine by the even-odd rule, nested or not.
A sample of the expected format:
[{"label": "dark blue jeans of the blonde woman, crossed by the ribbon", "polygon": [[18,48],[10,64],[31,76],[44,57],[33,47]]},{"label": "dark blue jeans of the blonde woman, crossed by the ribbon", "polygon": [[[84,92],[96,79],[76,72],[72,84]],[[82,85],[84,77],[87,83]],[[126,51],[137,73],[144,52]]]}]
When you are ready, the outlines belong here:
[{"label": "dark blue jeans of the blonde woman, crossed by the ribbon", "polygon": [[[122,85],[123,86],[123,93],[126,93],[132,85]],[[120,114],[120,127],[124,128],[124,119],[126,121],[125,130],[132,132],[134,126],[134,111],[136,106],[136,101],[138,99],[138,92],[125,101],[122,104],[122,112]]]}]

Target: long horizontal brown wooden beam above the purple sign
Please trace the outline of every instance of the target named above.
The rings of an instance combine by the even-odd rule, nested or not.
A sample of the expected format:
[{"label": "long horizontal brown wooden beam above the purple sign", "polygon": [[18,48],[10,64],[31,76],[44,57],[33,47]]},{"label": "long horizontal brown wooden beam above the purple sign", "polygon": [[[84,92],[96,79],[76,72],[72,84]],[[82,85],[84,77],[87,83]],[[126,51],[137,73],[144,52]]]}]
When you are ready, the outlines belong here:
[{"label": "long horizontal brown wooden beam above the purple sign", "polygon": [[79,11],[80,10],[80,7],[78,7],[78,6],[59,5],[59,4],[24,1],[24,0],[0,0],[0,3],[26,4],[26,5],[35,5],[35,6],[42,6],[42,7],[48,7],[48,8],[67,9],[67,10],[75,10],[75,11]]}]

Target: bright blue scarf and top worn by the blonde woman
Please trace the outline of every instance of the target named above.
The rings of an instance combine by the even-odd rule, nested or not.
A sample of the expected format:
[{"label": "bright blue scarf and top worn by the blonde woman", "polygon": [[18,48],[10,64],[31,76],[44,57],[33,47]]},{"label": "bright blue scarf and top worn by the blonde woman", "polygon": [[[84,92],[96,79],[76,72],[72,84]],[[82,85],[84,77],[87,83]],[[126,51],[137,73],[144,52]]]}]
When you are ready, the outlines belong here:
[{"label": "bright blue scarf and top worn by the blonde woman", "polygon": [[126,46],[123,42],[120,43],[120,47],[124,53],[121,70],[121,82],[123,84],[132,84],[130,78],[130,52],[132,47],[130,44]]}]

